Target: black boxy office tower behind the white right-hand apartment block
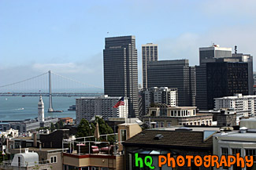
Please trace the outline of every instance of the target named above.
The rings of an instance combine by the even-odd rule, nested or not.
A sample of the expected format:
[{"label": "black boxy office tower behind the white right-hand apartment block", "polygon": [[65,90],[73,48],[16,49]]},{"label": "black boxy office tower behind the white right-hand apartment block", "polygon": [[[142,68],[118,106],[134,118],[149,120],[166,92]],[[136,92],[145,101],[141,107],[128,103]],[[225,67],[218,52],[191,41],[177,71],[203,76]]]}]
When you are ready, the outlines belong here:
[{"label": "black boxy office tower behind the white right-hand apartment block", "polygon": [[248,63],[206,63],[207,108],[214,108],[214,98],[248,95]]}]

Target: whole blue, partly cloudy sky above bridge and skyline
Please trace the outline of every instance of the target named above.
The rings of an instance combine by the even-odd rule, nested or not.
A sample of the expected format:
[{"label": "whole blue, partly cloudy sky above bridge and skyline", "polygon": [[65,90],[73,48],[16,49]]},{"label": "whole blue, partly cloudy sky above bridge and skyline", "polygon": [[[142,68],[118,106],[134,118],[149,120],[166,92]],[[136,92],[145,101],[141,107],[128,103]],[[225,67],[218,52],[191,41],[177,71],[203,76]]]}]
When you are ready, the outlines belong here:
[{"label": "whole blue, partly cloudy sky above bridge and skyline", "polygon": [[[103,87],[106,37],[158,44],[158,60],[188,59],[198,48],[232,47],[256,56],[254,0],[0,1],[0,86],[46,71]],[[254,70],[256,68],[254,60]]]}]

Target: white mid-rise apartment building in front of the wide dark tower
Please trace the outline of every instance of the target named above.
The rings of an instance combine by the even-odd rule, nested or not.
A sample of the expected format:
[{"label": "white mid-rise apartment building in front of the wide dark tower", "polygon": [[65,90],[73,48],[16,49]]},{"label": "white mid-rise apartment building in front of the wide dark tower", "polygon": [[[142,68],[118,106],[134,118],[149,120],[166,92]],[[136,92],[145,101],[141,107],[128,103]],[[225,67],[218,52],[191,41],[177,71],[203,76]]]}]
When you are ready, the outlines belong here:
[{"label": "white mid-rise apartment building in front of the wide dark tower", "polygon": [[168,87],[153,87],[150,89],[144,89],[141,91],[143,98],[143,111],[144,115],[148,114],[148,108],[150,104],[167,104],[171,107],[178,106],[178,89],[170,89]]}]

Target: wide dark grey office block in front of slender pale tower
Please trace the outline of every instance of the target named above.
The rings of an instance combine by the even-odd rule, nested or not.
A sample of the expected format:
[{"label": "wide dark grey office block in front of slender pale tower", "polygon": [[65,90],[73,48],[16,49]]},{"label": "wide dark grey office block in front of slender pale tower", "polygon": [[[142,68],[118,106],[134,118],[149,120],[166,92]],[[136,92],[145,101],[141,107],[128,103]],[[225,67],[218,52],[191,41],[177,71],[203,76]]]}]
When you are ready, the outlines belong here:
[{"label": "wide dark grey office block in front of slender pale tower", "polygon": [[179,107],[195,106],[195,67],[188,60],[151,61],[147,81],[148,88],[177,88]]}]

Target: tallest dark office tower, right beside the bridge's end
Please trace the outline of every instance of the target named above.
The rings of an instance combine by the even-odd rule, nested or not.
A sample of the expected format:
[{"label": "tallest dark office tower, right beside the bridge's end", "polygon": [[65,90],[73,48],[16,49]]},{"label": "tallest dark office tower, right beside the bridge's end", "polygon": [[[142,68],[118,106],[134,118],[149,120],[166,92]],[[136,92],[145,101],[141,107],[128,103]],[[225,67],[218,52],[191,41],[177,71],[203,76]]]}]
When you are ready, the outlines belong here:
[{"label": "tallest dark office tower, right beside the bridge's end", "polygon": [[128,117],[138,117],[138,57],[135,36],[105,38],[103,58],[105,94],[128,97]]}]

